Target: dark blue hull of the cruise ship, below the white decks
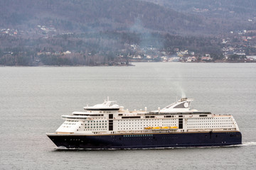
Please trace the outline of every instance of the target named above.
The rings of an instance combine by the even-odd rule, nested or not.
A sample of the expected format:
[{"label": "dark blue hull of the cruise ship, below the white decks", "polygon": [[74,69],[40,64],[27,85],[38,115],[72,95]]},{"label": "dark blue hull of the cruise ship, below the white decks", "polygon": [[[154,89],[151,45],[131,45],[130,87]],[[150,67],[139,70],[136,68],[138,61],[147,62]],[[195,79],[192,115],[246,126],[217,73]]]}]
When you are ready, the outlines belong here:
[{"label": "dark blue hull of the cruise ship, below the white decks", "polygon": [[242,144],[240,132],[154,133],[127,135],[48,134],[57,147],[83,149],[132,149],[162,147],[212,147]]}]

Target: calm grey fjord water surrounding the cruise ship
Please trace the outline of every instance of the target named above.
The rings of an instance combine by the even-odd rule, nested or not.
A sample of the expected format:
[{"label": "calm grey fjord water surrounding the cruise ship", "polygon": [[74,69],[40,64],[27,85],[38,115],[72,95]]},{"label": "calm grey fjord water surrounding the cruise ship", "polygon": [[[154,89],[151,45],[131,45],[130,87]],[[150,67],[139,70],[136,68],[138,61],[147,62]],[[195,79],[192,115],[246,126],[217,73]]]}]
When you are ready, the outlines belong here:
[{"label": "calm grey fjord water surrounding the cruise ship", "polygon": [[[0,67],[0,169],[254,169],[256,65],[136,63],[135,67]],[[156,110],[192,107],[232,114],[240,147],[58,150],[46,136],[61,115],[110,100]]]}]

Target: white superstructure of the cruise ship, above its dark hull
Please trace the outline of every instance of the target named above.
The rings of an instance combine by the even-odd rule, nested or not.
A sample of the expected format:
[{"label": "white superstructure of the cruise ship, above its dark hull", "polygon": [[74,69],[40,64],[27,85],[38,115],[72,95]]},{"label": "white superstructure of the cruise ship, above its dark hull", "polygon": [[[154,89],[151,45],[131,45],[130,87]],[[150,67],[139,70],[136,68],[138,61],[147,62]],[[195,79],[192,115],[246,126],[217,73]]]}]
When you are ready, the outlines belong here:
[{"label": "white superstructure of the cruise ship, above its dark hull", "polygon": [[63,115],[57,134],[129,134],[151,132],[239,131],[232,115],[191,110],[193,99],[181,98],[157,111],[128,111],[115,101],[85,107],[83,112]]}]

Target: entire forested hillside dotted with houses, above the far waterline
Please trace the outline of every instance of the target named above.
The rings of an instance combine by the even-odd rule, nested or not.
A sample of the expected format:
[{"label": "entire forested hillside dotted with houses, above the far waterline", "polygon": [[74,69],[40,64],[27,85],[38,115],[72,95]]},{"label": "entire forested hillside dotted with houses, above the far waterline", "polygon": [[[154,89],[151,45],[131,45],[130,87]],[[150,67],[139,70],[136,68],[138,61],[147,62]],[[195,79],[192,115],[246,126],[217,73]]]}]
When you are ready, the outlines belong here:
[{"label": "entire forested hillside dotted with houses, above the far waterline", "polygon": [[176,55],[183,62],[245,62],[256,54],[255,4],[0,0],[0,65],[127,65]]}]

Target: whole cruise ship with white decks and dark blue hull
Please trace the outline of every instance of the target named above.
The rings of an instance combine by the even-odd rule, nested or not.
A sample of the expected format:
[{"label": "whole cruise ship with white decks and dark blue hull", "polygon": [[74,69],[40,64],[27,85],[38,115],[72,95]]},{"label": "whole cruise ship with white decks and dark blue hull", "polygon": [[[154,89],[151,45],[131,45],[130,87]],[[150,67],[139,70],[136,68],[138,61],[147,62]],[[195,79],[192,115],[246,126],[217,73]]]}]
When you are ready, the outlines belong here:
[{"label": "whole cruise ship with white decks and dark blue hull", "polygon": [[181,98],[156,111],[128,111],[116,101],[62,115],[65,122],[46,135],[59,148],[139,149],[240,145],[242,134],[232,115],[191,109]]}]

